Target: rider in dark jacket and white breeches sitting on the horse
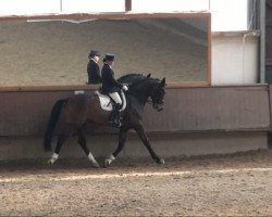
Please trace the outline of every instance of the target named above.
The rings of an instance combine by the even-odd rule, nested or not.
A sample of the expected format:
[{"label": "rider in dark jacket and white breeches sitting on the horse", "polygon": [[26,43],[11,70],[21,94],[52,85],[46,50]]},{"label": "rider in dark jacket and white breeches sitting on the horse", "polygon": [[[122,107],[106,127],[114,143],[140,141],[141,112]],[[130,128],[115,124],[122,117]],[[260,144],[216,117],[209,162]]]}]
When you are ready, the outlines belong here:
[{"label": "rider in dark jacket and white breeches sitting on the horse", "polygon": [[121,127],[121,123],[120,123],[120,108],[121,108],[121,104],[122,104],[122,100],[120,98],[120,90],[123,89],[125,91],[127,91],[127,87],[118,82],[114,79],[114,73],[112,69],[112,66],[114,64],[115,61],[115,56],[114,54],[111,53],[107,53],[104,59],[103,59],[103,67],[102,67],[102,91],[104,93],[108,93],[111,99],[115,102],[113,105],[113,111],[112,111],[112,119],[111,123],[116,126],[116,127]]}]

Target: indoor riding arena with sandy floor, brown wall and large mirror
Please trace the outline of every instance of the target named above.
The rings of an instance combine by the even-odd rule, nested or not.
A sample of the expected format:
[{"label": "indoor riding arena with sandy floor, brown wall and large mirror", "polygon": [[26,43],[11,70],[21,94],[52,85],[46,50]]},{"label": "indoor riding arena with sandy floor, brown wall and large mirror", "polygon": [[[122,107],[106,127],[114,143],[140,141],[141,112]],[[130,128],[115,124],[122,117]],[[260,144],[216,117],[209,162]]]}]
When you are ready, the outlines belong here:
[{"label": "indoor riding arena with sandy floor, brown wall and large mirror", "polygon": [[[248,82],[259,72],[260,33],[213,33],[209,11],[133,13],[125,2],[126,12],[0,15],[0,216],[272,216],[272,89]],[[100,67],[115,54],[115,78],[165,77],[163,111],[146,103],[143,117],[164,164],[131,130],[106,167],[119,129],[96,125],[84,133],[100,167],[76,135],[48,164],[54,103],[100,88],[86,85],[90,50],[100,51]],[[236,64],[245,82],[221,84],[218,72],[242,74]]]}]

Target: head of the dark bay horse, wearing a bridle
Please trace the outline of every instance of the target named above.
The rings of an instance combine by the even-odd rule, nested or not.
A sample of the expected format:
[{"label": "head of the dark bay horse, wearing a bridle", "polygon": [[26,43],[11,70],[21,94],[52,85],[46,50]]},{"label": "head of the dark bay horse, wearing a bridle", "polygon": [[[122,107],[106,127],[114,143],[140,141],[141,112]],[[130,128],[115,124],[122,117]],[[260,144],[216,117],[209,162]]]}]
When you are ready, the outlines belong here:
[{"label": "head of the dark bay horse, wearing a bridle", "polygon": [[158,112],[161,112],[163,110],[165,94],[164,87],[165,78],[163,78],[161,81],[158,81],[158,84],[151,89],[150,92],[151,103],[153,105],[153,108],[156,108]]}]

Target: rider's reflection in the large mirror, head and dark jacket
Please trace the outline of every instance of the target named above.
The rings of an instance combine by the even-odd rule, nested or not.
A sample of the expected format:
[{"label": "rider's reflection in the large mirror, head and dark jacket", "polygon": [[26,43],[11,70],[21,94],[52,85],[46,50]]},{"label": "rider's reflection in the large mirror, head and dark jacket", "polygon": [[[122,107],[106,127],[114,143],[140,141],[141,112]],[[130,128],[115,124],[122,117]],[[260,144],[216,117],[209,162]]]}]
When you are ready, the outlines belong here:
[{"label": "rider's reflection in the large mirror, head and dark jacket", "polygon": [[98,65],[99,58],[100,58],[99,51],[89,52],[89,55],[88,55],[89,63],[87,65],[88,84],[101,82],[100,68]]}]

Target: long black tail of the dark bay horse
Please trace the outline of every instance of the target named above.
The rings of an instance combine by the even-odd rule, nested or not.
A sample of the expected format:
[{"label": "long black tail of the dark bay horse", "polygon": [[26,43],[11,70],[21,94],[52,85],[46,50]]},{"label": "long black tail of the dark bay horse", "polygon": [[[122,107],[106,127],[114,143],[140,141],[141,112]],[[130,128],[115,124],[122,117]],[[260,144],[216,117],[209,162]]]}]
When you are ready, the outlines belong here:
[{"label": "long black tail of the dark bay horse", "polygon": [[50,119],[49,119],[49,123],[47,125],[47,131],[45,135],[45,139],[44,139],[44,146],[45,146],[46,151],[52,150],[51,142],[52,142],[52,137],[53,137],[53,130],[55,128],[59,116],[61,114],[62,105],[65,102],[67,102],[67,99],[61,99],[61,100],[57,101],[53,105],[53,108],[52,108],[51,114],[50,114]]}]

